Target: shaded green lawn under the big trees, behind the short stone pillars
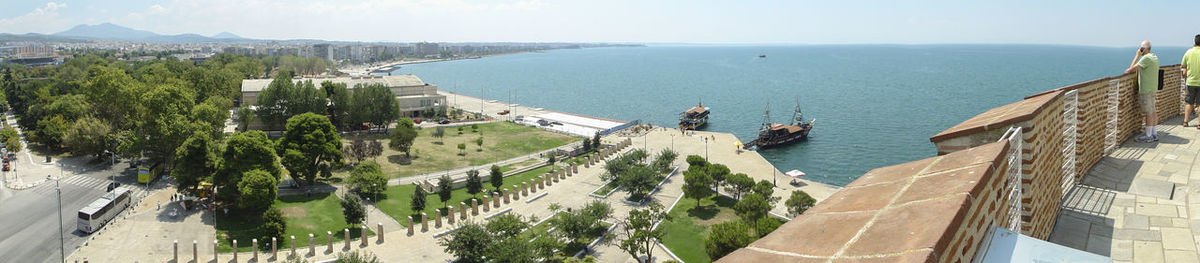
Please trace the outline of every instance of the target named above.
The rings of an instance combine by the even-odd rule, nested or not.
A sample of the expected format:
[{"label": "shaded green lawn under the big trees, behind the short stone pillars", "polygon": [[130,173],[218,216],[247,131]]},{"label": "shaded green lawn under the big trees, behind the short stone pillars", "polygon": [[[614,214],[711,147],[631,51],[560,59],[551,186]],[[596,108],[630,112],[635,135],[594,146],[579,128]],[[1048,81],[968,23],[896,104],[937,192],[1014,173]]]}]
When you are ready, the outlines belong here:
[{"label": "shaded green lawn under the big trees, behind the short stone pillars", "polygon": [[[283,213],[287,220],[287,232],[283,240],[278,240],[280,250],[288,247],[288,237],[296,237],[296,249],[308,246],[308,234],[316,235],[317,245],[325,243],[325,232],[334,232],[334,241],[342,240],[342,229],[350,228],[350,238],[358,238],[360,229],[356,225],[346,223],[342,215],[341,198],[332,193],[313,193],[312,196],[293,195],[281,196],[275,199],[275,208]],[[220,213],[218,213],[220,214]],[[218,250],[221,252],[233,251],[233,239],[238,239],[238,251],[251,251],[251,239],[263,237],[258,228],[263,220],[258,215],[242,216],[217,216],[217,235],[221,238]],[[367,234],[371,232],[367,229]],[[259,240],[262,250],[270,250],[270,240]]]}]

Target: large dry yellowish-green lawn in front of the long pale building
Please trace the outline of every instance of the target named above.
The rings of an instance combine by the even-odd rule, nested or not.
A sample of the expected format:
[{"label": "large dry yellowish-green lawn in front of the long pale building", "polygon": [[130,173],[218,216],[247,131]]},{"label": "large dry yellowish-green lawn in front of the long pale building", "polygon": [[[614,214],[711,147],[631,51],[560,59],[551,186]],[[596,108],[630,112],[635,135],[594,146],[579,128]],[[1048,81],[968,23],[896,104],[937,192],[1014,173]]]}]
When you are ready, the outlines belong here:
[{"label": "large dry yellowish-green lawn in front of the long pale building", "polygon": [[[457,127],[446,127],[443,139],[433,138],[434,130],[428,127],[418,131],[410,151],[414,156],[412,160],[404,157],[404,153],[388,148],[389,139],[385,135],[346,136],[342,142],[348,144],[354,139],[379,139],[384,144],[384,151],[376,160],[384,174],[403,178],[504,161],[582,139],[506,121],[480,124],[479,132],[472,132],[467,125],[463,126],[462,135],[458,135]],[[474,142],[480,133],[484,137],[482,150]],[[467,144],[466,155],[460,155],[460,143]],[[349,171],[337,173],[344,177]]]}]

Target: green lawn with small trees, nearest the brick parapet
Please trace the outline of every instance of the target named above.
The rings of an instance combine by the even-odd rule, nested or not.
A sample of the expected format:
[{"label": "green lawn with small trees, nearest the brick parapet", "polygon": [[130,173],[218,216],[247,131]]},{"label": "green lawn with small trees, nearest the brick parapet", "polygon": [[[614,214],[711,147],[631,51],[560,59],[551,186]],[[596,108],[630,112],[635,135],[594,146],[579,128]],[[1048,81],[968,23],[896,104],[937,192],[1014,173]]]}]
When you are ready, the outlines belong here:
[{"label": "green lawn with small trees, nearest the brick parapet", "polygon": [[737,201],[714,195],[701,199],[702,208],[696,208],[696,199],[684,198],[671,209],[671,220],[659,227],[666,229],[662,245],[666,245],[679,259],[688,263],[713,262],[704,252],[704,238],[708,226],[740,220],[733,211]]}]

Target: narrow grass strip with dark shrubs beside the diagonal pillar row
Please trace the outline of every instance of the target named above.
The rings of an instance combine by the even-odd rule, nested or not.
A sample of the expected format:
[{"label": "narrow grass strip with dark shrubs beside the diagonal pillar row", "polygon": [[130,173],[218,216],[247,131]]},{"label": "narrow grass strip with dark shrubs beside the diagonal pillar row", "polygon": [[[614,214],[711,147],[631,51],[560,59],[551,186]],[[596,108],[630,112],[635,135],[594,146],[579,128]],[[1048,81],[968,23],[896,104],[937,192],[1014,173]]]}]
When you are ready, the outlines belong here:
[{"label": "narrow grass strip with dark shrubs beside the diagonal pillar row", "polygon": [[[500,186],[500,189],[512,189],[514,186],[520,185],[521,183],[529,181],[529,179],[534,179],[541,177],[542,174],[546,174],[547,172],[550,172],[550,168],[551,166],[542,166],[523,173],[504,177],[504,184]],[[480,177],[486,177],[486,175],[482,172],[480,172]],[[396,222],[400,222],[400,225],[403,226],[408,226],[408,216],[413,216],[414,223],[420,222],[420,216],[415,216],[419,215],[419,213],[414,213],[410,205],[414,191],[416,191],[416,186],[412,184],[388,186],[388,190],[384,191],[383,202],[379,202],[378,205],[379,210],[382,210],[384,214],[388,214],[388,216],[391,216],[392,219],[396,220]],[[492,187],[491,181],[484,181],[484,191],[488,192],[496,190]],[[482,195],[484,193],[480,193],[479,197],[482,197]],[[470,193],[467,192],[467,187],[455,189],[450,193],[449,203],[454,204],[455,210],[457,210],[458,209],[457,204],[460,202],[464,202],[469,207],[472,198],[474,197],[472,197]],[[430,220],[432,220],[433,213],[436,210],[440,210],[440,208],[442,208],[442,199],[438,198],[437,193],[428,193],[428,196],[425,197],[424,213],[426,213],[430,216]],[[480,213],[482,213],[482,209],[480,209]],[[443,213],[443,215],[445,215],[445,213]]]}]

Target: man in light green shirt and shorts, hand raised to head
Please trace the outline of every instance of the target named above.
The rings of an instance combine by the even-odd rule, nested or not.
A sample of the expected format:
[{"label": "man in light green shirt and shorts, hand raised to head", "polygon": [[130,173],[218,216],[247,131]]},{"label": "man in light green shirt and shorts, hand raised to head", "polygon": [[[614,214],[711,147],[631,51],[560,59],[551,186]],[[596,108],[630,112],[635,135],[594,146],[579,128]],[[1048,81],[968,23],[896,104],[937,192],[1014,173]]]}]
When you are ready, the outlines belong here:
[{"label": "man in light green shirt and shorts, hand raised to head", "polygon": [[1150,41],[1138,46],[1138,53],[1129,62],[1126,73],[1138,72],[1138,103],[1141,114],[1146,116],[1146,135],[1134,138],[1134,142],[1158,142],[1158,114],[1154,114],[1154,95],[1158,91],[1158,56],[1150,53]]}]

